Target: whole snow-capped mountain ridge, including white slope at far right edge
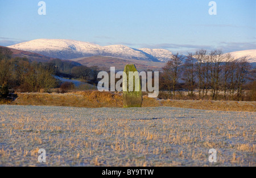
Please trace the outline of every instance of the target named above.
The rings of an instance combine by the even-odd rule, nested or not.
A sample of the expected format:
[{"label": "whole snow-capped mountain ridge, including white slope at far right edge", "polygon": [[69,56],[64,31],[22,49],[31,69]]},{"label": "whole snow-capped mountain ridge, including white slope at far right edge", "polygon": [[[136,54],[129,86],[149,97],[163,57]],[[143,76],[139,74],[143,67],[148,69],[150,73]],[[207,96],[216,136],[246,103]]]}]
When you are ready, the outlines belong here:
[{"label": "whole snow-capped mountain ridge, including white slope at far right edge", "polygon": [[[135,49],[125,45],[101,46],[89,42],[65,39],[36,39],[7,47],[34,52],[51,58],[60,58],[62,60],[110,56],[126,60],[167,62],[172,57],[172,52],[167,49]],[[250,63],[256,62],[256,49],[230,52],[230,54],[236,59],[247,56]]]}]

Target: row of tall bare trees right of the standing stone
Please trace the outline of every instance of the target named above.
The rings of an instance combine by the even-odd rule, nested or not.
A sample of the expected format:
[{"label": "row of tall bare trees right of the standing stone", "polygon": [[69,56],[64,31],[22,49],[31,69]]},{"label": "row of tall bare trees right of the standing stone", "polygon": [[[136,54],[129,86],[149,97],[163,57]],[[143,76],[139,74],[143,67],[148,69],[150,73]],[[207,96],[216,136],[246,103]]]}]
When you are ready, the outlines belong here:
[{"label": "row of tall bare trees right of the standing stone", "polygon": [[246,57],[235,60],[220,50],[177,53],[163,67],[160,86],[171,91],[173,99],[175,91],[183,89],[191,98],[243,100],[246,84],[255,81],[253,70]]}]

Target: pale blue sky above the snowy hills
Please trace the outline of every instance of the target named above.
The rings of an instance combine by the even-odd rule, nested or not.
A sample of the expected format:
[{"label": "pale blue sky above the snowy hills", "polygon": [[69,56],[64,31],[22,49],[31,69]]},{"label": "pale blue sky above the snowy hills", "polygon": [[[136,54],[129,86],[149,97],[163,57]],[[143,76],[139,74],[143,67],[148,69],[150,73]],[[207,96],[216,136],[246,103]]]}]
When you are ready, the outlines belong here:
[{"label": "pale blue sky above the snowy hills", "polygon": [[72,39],[100,45],[164,48],[172,52],[256,49],[256,1],[0,0],[0,45],[34,39]]}]

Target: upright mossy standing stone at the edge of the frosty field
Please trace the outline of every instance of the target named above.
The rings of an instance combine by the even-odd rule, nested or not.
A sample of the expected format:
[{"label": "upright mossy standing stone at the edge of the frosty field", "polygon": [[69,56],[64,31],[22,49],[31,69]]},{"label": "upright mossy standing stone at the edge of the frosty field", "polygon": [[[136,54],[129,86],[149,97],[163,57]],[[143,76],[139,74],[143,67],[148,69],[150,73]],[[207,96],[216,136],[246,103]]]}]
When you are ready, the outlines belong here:
[{"label": "upright mossy standing stone at the edge of the frosty field", "polygon": [[[133,79],[129,80],[129,72],[134,73]],[[141,79],[139,79],[138,70],[134,64],[129,64],[125,66],[123,71],[123,107],[141,107],[142,106],[142,91],[141,91]],[[125,76],[126,74],[126,76]],[[131,74],[131,73],[130,73]],[[131,75],[132,76],[132,75]],[[130,89],[129,90],[129,85]]]}]

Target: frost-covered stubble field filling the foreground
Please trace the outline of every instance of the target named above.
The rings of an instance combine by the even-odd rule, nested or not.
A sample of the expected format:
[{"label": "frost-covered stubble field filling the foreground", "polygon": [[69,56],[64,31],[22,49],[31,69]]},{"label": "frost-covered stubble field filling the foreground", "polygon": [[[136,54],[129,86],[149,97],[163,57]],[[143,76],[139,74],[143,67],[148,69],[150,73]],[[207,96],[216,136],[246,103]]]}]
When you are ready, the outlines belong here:
[{"label": "frost-covered stubble field filling the foreground", "polygon": [[[0,105],[0,166],[256,166],[255,112]],[[38,163],[38,150],[46,163]],[[217,163],[208,151],[217,150]]]}]

